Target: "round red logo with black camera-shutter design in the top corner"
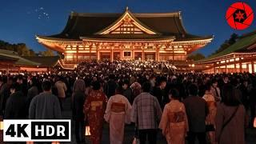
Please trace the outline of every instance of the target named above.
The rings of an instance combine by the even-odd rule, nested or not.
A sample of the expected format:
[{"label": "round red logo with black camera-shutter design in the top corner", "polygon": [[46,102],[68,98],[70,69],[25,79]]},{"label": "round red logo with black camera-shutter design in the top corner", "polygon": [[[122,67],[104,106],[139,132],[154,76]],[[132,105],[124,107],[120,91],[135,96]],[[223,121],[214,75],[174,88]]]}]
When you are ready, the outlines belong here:
[{"label": "round red logo with black camera-shutter design in the top corner", "polygon": [[244,30],[254,21],[254,11],[246,2],[236,2],[226,11],[226,22],[235,30]]}]

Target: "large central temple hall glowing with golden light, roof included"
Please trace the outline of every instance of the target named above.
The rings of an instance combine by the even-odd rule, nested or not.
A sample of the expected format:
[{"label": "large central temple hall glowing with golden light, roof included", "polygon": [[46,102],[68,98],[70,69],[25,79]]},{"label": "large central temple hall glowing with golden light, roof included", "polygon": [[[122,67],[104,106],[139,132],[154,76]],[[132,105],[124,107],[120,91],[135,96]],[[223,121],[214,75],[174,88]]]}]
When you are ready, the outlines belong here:
[{"label": "large central temple hall glowing with golden light, roof included", "polygon": [[186,32],[181,12],[134,14],[78,14],[72,12],[60,34],[37,35],[43,46],[64,55],[60,64],[109,59],[171,60],[186,64],[187,55],[212,41],[212,36]]}]

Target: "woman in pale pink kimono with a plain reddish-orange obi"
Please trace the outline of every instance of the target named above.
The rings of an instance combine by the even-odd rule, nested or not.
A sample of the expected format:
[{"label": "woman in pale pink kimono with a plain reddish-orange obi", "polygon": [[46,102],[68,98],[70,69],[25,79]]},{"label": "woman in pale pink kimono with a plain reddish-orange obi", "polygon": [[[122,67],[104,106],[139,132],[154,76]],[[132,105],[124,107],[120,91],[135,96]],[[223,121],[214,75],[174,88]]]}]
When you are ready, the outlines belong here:
[{"label": "woman in pale pink kimono with a plain reddish-orange obi", "polygon": [[130,123],[130,102],[122,95],[122,87],[117,87],[106,105],[104,118],[110,123],[110,144],[122,144],[125,123]]}]

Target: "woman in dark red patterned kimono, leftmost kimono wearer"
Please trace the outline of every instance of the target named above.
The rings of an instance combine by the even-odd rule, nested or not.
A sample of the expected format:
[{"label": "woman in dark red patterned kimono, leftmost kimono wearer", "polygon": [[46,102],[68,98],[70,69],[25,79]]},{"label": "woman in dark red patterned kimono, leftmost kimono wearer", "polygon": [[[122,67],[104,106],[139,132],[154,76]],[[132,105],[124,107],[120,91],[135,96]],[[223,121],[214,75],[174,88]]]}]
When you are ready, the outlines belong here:
[{"label": "woman in dark red patterned kimono, leftmost kimono wearer", "polygon": [[107,98],[102,92],[99,82],[92,83],[93,90],[90,92],[84,103],[84,113],[90,126],[90,141],[92,144],[102,142],[102,129],[104,112],[106,110]]}]

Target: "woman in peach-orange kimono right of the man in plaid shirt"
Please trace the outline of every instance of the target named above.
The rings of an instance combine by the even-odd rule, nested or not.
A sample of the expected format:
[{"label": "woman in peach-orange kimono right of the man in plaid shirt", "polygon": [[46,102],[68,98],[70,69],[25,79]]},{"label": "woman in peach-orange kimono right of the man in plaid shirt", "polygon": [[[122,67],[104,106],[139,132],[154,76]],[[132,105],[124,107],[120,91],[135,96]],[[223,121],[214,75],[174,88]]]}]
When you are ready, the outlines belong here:
[{"label": "woman in peach-orange kimono right of the man in plaid shirt", "polygon": [[186,108],[182,102],[179,102],[179,93],[176,89],[169,92],[170,102],[166,104],[159,128],[166,137],[168,144],[185,144],[186,132],[188,131],[188,122],[186,118]]}]

